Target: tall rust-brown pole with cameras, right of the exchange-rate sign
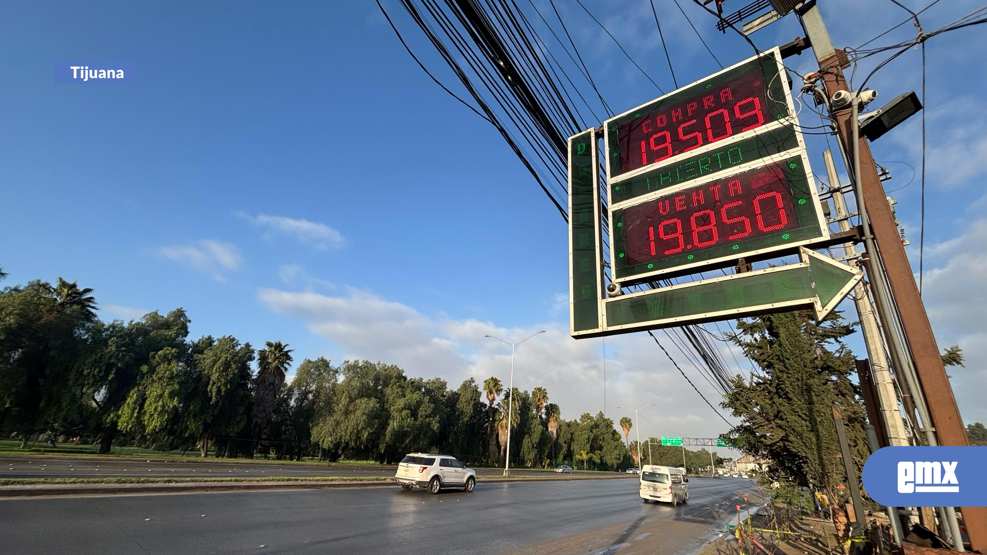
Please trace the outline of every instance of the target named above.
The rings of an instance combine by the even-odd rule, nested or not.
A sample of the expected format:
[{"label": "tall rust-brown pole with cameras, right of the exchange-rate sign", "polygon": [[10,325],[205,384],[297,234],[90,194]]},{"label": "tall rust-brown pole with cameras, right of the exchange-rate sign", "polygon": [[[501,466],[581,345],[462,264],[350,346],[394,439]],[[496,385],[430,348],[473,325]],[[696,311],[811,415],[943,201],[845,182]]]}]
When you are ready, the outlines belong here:
[{"label": "tall rust-brown pole with cameras, right of the exchange-rate sign", "polygon": [[[846,65],[846,52],[836,50],[829,38],[822,15],[815,3],[799,10],[799,17],[808,40],[812,45],[819,71],[828,98],[833,98],[839,91],[848,91],[843,67]],[[853,102],[857,102],[856,99]],[[856,121],[852,117],[856,111],[842,111],[833,114],[836,130],[847,150],[854,149],[853,134]],[[914,361],[915,372],[921,385],[921,393],[913,391],[916,396],[924,395],[931,416],[930,422],[923,422],[923,432],[934,433],[941,445],[968,445],[963,421],[959,416],[959,408],[952,395],[946,367],[940,356],[932,325],[926,314],[922,297],[912,275],[911,265],[905,254],[904,246],[898,235],[890,206],[887,203],[884,189],[874,167],[871,147],[864,137],[858,137],[859,157],[853,161],[855,171],[861,177],[858,186],[863,190],[863,203],[867,206],[870,218],[873,240],[879,249],[878,253],[868,253],[873,261],[876,273],[883,271],[893,295],[893,307],[896,309],[901,328],[906,339],[905,349],[908,350],[911,361]],[[881,264],[883,263],[883,264]],[[872,282],[882,277],[872,276]],[[894,322],[884,322],[892,326]],[[891,347],[891,346],[889,346]],[[932,425],[932,426],[930,426]],[[987,508],[962,508],[963,520],[966,524],[970,546],[974,550],[987,553]],[[961,545],[961,544],[960,544]]]}]

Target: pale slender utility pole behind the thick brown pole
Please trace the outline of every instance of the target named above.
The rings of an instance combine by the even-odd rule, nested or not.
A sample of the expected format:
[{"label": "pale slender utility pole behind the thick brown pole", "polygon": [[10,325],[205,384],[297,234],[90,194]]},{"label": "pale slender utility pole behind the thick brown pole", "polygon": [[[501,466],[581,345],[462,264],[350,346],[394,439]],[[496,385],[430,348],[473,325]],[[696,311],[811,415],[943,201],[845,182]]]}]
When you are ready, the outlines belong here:
[{"label": "pale slender utility pole behind the thick brown pole", "polygon": [[[826,163],[826,174],[829,177],[829,192],[833,196],[833,207],[836,209],[836,217],[840,218],[840,231],[849,231],[850,221],[846,219],[847,204],[844,202],[843,193],[840,191],[840,178],[836,173],[836,166],[833,164],[833,153],[824,150],[822,158]],[[844,244],[843,250],[847,257],[857,254],[857,247],[853,243]],[[879,410],[883,417],[888,443],[891,446],[908,445],[908,435],[905,433],[905,425],[901,421],[901,411],[898,409],[898,395],[894,389],[890,369],[887,366],[887,357],[884,356],[883,344],[880,341],[880,330],[877,328],[877,318],[874,316],[863,279],[858,281],[854,287],[854,304],[857,305],[861,331],[864,334],[864,345],[867,346],[867,354],[871,359],[874,388],[877,390]],[[880,426],[880,423],[874,424]]]}]

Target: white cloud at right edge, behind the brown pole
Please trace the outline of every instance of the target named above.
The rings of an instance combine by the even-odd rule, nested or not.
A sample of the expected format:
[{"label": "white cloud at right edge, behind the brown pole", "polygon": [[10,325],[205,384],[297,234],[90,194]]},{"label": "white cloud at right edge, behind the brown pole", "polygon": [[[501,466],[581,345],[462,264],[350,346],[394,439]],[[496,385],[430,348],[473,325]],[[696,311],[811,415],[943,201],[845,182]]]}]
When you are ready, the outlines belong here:
[{"label": "white cloud at right edge, behind the brown pole", "polygon": [[934,245],[932,257],[943,262],[923,279],[923,301],[929,311],[940,349],[959,345],[966,367],[947,369],[952,376],[960,414],[967,424],[987,422],[987,405],[981,397],[987,389],[987,220],[980,219],[961,235]]}]

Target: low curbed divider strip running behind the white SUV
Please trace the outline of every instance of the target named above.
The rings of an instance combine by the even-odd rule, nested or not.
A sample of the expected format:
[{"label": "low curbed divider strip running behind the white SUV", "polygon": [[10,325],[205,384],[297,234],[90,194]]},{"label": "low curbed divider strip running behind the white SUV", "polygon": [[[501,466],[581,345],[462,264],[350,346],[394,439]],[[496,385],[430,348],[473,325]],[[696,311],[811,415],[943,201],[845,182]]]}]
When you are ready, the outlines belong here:
[{"label": "low curbed divider strip running behind the white SUV", "polygon": [[[626,480],[624,476],[606,477],[585,477],[585,478],[483,478],[478,482],[497,484],[504,482],[570,482],[578,480]],[[259,491],[259,490],[321,490],[329,488],[370,488],[370,487],[394,487],[398,485],[393,480],[374,481],[339,481],[339,482],[241,482],[241,483],[221,483],[221,482],[200,482],[200,483],[180,483],[180,484],[83,484],[73,486],[71,484],[44,485],[37,486],[2,486],[0,487],[0,499],[2,498],[25,498],[42,496],[100,496],[118,494],[185,494],[198,492],[236,492],[236,491]]]}]

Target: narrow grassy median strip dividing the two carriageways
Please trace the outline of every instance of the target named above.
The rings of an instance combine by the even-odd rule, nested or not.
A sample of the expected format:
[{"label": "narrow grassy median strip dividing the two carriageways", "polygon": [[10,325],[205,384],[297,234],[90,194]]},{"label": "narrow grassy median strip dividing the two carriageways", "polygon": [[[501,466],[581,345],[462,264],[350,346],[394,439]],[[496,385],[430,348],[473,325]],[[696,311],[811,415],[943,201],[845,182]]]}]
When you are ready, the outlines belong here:
[{"label": "narrow grassy median strip dividing the two carriageways", "polygon": [[[478,476],[480,483],[619,480],[627,476]],[[0,479],[0,498],[92,496],[120,494],[177,494],[257,490],[311,490],[328,488],[398,487],[379,478],[8,478]]]}]

